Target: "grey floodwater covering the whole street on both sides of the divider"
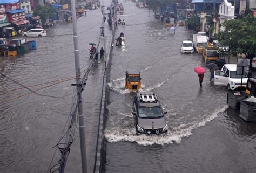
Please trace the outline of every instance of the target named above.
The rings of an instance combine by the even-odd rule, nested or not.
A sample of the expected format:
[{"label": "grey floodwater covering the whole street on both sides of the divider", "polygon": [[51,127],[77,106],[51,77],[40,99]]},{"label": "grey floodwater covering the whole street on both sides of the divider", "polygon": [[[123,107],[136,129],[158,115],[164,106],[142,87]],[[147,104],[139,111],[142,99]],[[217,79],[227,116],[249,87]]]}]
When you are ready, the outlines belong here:
[{"label": "grey floodwater covering the whole street on both sides of the divider", "polygon": [[[246,123],[226,104],[227,87],[214,86],[206,69],[200,89],[194,67],[205,66],[200,54],[181,54],[183,40],[192,38],[185,26],[176,34],[154,18],[148,9],[121,1],[125,43],[113,47],[108,115],[104,131],[106,172],[252,172],[256,170],[255,123]],[[106,6],[110,1],[104,2]],[[100,9],[87,10],[77,20],[82,75],[90,63],[89,43],[104,47],[99,38]],[[69,117],[75,87],[72,23],[47,30],[36,40],[37,50],[22,57],[0,57],[0,172],[46,172],[57,164],[54,147]],[[105,39],[111,30],[105,23]],[[105,50],[109,52],[109,50]],[[231,58],[230,63],[236,63]],[[99,60],[83,92],[88,172],[93,172],[105,66]],[[136,135],[132,115],[134,93],[125,90],[125,71],[139,70],[141,92],[156,93],[164,110],[169,132]],[[44,95],[44,96],[42,96]],[[79,135],[71,146],[65,172],[82,172]]]}]

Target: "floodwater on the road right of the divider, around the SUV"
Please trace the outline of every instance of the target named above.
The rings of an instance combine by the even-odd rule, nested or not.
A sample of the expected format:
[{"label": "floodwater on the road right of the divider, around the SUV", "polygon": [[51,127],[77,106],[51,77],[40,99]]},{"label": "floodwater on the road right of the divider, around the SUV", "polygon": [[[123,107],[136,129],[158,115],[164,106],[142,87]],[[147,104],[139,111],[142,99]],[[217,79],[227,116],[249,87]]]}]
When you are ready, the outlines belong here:
[{"label": "floodwater on the road right of the divider, around the SUV", "polygon": [[[201,55],[181,54],[192,38],[185,26],[170,34],[153,12],[122,2],[126,26],[122,49],[115,47],[107,106],[106,172],[255,172],[255,123],[246,123],[226,104],[227,87],[214,86],[206,70],[199,87],[196,66]],[[236,63],[235,59],[230,63]],[[168,113],[169,133],[136,136],[132,115],[134,94],[124,89],[126,70],[139,70],[142,92],[154,92]]]}]

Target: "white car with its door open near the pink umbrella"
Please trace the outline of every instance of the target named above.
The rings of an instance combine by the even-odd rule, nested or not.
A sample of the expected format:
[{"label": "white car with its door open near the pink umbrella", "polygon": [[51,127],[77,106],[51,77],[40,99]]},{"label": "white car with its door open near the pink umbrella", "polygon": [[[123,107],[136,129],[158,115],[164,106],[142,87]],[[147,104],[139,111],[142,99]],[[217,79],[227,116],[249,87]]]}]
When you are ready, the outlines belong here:
[{"label": "white car with its door open near the pink umbrella", "polygon": [[[236,88],[246,87],[248,78],[246,75],[237,74],[236,64],[225,64],[221,70],[214,71],[214,85],[227,86],[229,90],[234,90]],[[242,79],[242,80],[241,80]]]}]

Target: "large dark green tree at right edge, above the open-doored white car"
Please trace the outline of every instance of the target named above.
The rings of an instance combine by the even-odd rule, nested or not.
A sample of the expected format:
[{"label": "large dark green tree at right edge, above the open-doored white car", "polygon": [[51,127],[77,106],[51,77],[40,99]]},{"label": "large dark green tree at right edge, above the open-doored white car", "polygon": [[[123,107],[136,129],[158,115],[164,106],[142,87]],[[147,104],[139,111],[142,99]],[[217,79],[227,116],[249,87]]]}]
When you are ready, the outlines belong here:
[{"label": "large dark green tree at right edge, above the open-doored white car", "polygon": [[217,36],[220,43],[229,46],[234,56],[245,54],[252,64],[256,51],[256,18],[247,15],[241,19],[227,20],[223,26],[225,31],[220,31]]}]

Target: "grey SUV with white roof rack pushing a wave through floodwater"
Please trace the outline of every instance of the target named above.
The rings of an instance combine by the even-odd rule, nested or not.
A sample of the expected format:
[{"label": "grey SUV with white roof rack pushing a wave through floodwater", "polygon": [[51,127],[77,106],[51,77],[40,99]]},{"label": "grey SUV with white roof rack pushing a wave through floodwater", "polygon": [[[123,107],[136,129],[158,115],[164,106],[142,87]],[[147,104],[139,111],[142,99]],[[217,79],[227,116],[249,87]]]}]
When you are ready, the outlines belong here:
[{"label": "grey SUV with white roof rack pushing a wave through floodwater", "polygon": [[154,93],[137,93],[133,100],[137,134],[164,134],[168,132],[163,109]]}]

